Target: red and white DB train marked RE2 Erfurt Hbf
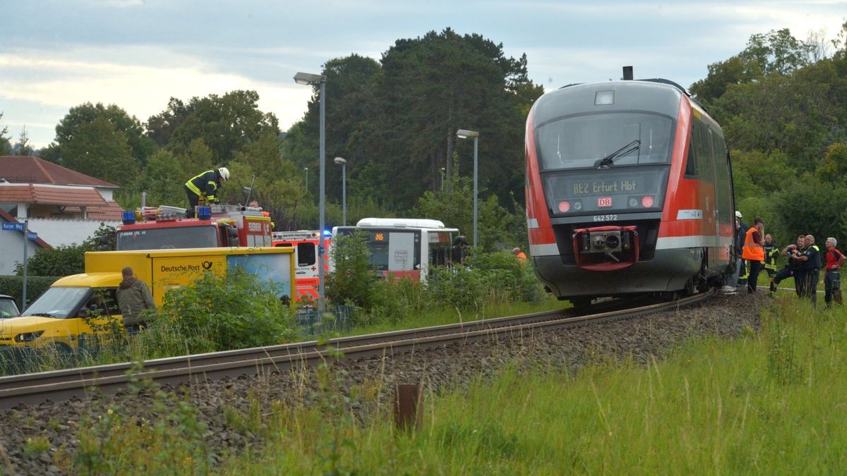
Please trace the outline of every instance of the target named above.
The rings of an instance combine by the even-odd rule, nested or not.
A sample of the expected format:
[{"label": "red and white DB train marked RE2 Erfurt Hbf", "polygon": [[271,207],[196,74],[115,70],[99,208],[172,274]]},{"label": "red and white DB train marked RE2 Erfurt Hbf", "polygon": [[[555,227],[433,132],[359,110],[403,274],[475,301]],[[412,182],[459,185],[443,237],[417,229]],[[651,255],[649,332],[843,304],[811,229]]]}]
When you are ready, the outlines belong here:
[{"label": "red and white DB train marked RE2 Erfurt Hbf", "polygon": [[532,262],[559,299],[690,293],[734,270],[729,154],[681,86],[548,92],[529,112],[526,159]]}]

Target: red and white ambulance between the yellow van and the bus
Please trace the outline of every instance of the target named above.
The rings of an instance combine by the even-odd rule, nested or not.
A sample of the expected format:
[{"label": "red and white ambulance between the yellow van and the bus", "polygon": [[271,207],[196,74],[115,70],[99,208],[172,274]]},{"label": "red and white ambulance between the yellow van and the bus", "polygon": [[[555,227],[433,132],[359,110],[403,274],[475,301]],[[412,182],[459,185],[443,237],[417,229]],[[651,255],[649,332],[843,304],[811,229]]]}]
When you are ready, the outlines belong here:
[{"label": "red and white ambulance between the yellow van and the bus", "polygon": [[[320,231],[274,231],[274,246],[291,246],[294,248],[294,285],[295,299],[318,300],[318,241]],[[332,237],[324,234],[324,274],[333,270],[329,263],[329,246]]]}]

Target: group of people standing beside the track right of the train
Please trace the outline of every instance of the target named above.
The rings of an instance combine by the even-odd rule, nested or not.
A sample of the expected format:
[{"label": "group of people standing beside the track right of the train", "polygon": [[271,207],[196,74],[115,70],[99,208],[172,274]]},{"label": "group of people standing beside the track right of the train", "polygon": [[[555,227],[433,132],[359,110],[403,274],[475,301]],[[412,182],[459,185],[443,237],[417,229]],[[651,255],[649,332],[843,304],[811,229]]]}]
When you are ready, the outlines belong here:
[{"label": "group of people standing beside the track right of the train", "polygon": [[[844,263],[844,254],[836,247],[838,241],[829,237],[826,241],[826,252],[815,244],[813,235],[800,235],[796,244],[785,246],[780,252],[779,246],[770,234],[764,234],[765,222],[756,217],[753,227],[741,221],[740,212],[735,212],[736,253],[741,259],[736,268],[733,282],[736,285],[747,286],[747,292],[756,292],[759,274],[764,269],[771,278],[771,294],[777,291],[777,286],[783,280],[794,278],[794,291],[797,296],[811,299],[817,305],[817,283],[820,272],[824,270],[824,302],[832,306],[833,301],[841,304],[841,278],[839,269]],[[788,257],[788,263],[781,269],[777,268],[780,256]]]}]

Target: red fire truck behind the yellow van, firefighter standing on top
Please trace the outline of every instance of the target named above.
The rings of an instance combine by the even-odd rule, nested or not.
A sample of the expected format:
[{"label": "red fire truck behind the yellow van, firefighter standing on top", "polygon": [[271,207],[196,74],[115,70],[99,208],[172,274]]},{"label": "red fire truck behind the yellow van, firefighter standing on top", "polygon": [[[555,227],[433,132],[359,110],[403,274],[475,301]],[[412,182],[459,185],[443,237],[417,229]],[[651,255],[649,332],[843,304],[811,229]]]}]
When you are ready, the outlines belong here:
[{"label": "red fire truck behind the yellow van, firefighter standing on top", "polygon": [[271,221],[261,208],[240,205],[198,207],[186,219],[185,208],[144,207],[124,212],[115,228],[115,250],[271,246]]}]

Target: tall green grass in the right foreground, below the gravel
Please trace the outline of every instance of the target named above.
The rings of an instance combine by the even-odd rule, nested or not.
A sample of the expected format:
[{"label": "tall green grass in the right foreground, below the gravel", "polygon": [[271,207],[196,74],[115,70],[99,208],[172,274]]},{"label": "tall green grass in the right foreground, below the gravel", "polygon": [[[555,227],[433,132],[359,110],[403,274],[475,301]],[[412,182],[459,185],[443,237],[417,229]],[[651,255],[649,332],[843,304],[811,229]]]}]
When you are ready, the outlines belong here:
[{"label": "tall green grass in the right foreground, below the gravel", "polygon": [[[761,332],[576,375],[512,368],[424,401],[396,433],[321,407],[265,420],[267,451],[223,473],[844,473],[847,313],[778,297]],[[340,442],[328,451],[330,441]],[[329,446],[328,446],[329,445]]]}]

